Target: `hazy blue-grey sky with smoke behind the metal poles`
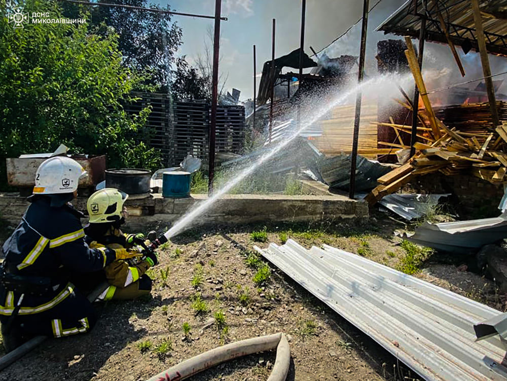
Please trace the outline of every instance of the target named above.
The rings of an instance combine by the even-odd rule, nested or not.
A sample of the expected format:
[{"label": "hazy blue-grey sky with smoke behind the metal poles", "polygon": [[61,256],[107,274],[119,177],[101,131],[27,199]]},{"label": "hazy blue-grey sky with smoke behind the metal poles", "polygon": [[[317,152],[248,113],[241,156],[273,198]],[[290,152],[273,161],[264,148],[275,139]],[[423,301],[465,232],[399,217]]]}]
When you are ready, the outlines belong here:
[{"label": "hazy blue-grey sky with smoke behind the metal poles", "polygon": [[[406,0],[382,0],[370,13],[366,74],[376,74],[375,60],[377,42],[399,37],[385,36],[376,32],[376,27],[389,15],[401,7]],[[179,12],[214,15],[214,0],[160,0],[160,5],[169,4]],[[370,1],[370,7],[377,2]],[[362,16],[363,2],[360,0],[307,0],[305,52],[311,54],[310,46],[317,52],[345,32]],[[220,74],[227,77],[226,91],[237,88],[240,99],[252,97],[253,62],[252,45],[257,50],[257,74],[262,65],[271,59],[271,24],[276,19],[275,56],[287,54],[300,44],[301,0],[222,0],[222,16],[228,21],[221,22],[222,41],[220,46]],[[183,45],[178,54],[186,55],[193,63],[198,55],[203,55],[205,41],[211,46],[207,30],[212,29],[213,20],[174,16],[183,30]],[[359,55],[361,23],[354,26],[344,37],[332,44],[326,53],[330,57],[343,54]],[[417,41],[415,41],[417,44]],[[480,76],[478,54],[470,52],[467,56],[458,49],[464,59],[467,78]],[[459,73],[449,51],[449,47],[439,44],[426,44],[424,67],[446,77],[445,84],[460,80]],[[492,72],[506,69],[505,60],[492,57]],[[501,66],[501,67],[500,67]],[[505,70],[503,70],[505,71]],[[374,72],[374,73],[373,73]],[[477,77],[476,77],[477,78]],[[461,80],[463,81],[463,80]],[[257,81],[259,86],[259,80]]]}]

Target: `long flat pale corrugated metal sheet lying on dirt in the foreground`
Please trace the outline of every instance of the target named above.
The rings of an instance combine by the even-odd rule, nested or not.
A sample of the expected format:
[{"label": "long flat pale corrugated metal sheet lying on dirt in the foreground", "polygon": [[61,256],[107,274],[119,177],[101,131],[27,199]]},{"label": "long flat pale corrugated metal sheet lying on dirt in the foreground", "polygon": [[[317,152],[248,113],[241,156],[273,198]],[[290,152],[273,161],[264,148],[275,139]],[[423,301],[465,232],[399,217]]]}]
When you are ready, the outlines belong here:
[{"label": "long flat pale corrugated metal sheet lying on dirt in the foreground", "polygon": [[498,336],[474,341],[474,324],[499,311],[327,245],[255,249],[423,379],[507,378]]}]

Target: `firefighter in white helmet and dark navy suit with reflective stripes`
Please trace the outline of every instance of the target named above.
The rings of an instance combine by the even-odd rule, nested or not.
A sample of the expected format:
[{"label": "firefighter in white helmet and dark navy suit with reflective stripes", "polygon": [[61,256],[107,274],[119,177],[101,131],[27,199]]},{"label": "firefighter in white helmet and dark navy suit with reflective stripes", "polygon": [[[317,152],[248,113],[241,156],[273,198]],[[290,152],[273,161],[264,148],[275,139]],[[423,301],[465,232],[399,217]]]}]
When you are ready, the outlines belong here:
[{"label": "firefighter in white helmet and dark navy suit with reflective stripes", "polygon": [[45,160],[35,174],[30,205],[3,246],[0,323],[9,352],[34,335],[67,336],[88,331],[96,321],[91,303],[68,272],[92,272],[138,253],[90,249],[69,204],[77,195],[81,165],[65,156]]}]

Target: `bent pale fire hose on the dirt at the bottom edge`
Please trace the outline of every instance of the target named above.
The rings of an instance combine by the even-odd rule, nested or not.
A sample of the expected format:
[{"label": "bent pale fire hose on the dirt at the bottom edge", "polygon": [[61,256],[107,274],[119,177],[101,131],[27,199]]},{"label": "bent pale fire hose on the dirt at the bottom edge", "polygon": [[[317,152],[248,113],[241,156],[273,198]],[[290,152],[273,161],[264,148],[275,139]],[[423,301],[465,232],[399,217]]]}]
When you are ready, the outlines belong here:
[{"label": "bent pale fire hose on the dirt at the bottom edge", "polygon": [[291,364],[291,348],[284,333],[232,342],[180,362],[148,381],[180,381],[214,365],[257,352],[276,348],[276,360],[268,381],[284,381]]}]

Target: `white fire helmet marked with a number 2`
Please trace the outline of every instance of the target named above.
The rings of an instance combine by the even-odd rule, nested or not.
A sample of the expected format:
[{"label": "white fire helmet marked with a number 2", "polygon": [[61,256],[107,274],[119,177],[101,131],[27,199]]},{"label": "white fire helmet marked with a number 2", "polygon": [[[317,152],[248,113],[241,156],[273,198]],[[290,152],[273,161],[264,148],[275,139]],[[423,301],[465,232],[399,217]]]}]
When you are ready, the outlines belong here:
[{"label": "white fire helmet marked with a number 2", "polygon": [[72,193],[85,175],[86,171],[76,160],[66,156],[51,157],[35,172],[33,194]]}]

